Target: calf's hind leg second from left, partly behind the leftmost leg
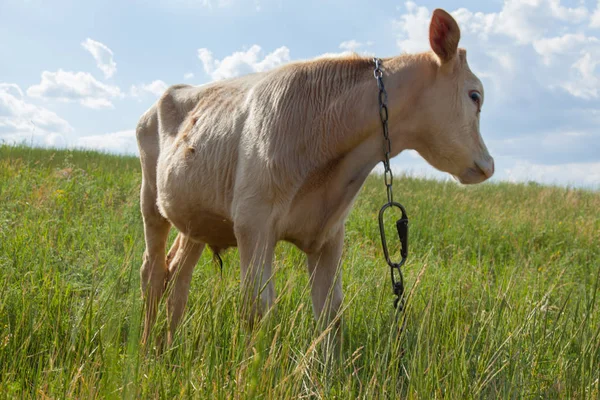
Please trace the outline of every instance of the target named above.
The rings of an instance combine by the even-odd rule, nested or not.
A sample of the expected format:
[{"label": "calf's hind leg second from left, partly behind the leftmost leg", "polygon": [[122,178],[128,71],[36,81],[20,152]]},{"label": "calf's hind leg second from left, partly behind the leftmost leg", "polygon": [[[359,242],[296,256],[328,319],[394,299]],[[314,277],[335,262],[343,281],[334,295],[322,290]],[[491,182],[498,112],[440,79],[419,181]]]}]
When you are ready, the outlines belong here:
[{"label": "calf's hind leg second from left, partly behind the leftmost leg", "polygon": [[190,282],[192,281],[192,272],[205,246],[204,243],[189,240],[181,233],[177,236],[176,241],[177,248],[172,248],[169,251],[169,254],[174,251],[169,263],[169,297],[167,300],[167,318],[169,320],[167,344],[169,346],[173,343],[177,325],[185,309]]}]

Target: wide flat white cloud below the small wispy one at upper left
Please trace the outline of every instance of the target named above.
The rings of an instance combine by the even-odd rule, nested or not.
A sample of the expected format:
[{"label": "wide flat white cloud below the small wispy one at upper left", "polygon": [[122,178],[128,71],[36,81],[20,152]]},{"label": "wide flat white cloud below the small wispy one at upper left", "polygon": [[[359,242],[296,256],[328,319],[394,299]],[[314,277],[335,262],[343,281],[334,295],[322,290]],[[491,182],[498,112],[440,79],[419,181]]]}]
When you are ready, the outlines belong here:
[{"label": "wide flat white cloud below the small wispy one at upper left", "polygon": [[112,99],[123,97],[117,86],[99,82],[88,72],[42,72],[42,81],[27,89],[27,95],[40,99],[77,101],[89,108],[112,108]]}]

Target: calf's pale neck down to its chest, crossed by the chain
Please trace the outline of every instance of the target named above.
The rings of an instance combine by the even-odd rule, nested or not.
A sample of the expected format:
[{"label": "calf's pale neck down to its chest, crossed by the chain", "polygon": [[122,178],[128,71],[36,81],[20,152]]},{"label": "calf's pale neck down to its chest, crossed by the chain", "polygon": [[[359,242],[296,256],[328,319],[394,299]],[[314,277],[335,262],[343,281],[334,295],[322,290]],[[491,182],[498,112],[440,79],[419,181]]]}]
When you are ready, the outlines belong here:
[{"label": "calf's pale neck down to its chest, crossed by the chain", "polygon": [[[421,90],[431,77],[428,68],[421,71],[419,62],[415,56],[384,61],[392,157],[402,150],[414,148],[418,127],[422,125],[419,123],[421,113],[416,108]],[[365,70],[361,79],[332,102],[343,111],[339,115],[332,113],[337,119],[332,126],[339,130],[321,135],[328,141],[326,148],[330,150],[330,160],[336,160],[336,167],[330,172],[331,179],[322,188],[326,200],[323,202],[323,197],[319,197],[319,204],[326,210],[321,229],[324,235],[336,231],[337,224],[345,220],[367,176],[383,160],[378,92],[372,70]]]}]

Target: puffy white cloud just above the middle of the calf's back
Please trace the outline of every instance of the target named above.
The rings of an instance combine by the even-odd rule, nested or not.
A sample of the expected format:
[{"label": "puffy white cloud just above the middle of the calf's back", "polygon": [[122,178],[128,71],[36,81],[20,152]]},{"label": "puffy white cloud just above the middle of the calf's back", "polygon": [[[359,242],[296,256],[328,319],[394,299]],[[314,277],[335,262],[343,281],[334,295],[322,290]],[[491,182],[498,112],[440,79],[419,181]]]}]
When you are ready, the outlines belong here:
[{"label": "puffy white cloud just above the middle of the calf's back", "polygon": [[198,49],[198,58],[202,62],[204,72],[218,81],[273,69],[290,61],[290,51],[282,46],[263,57],[261,47],[255,44],[246,51],[236,51],[222,60],[217,60],[210,50],[202,48]]}]

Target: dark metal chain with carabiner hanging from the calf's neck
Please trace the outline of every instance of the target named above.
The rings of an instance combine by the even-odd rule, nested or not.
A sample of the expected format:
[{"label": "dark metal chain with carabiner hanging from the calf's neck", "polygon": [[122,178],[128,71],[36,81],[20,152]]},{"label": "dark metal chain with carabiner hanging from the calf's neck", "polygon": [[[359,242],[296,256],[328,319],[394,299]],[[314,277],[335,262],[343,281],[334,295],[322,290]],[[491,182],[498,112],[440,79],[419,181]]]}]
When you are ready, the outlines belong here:
[{"label": "dark metal chain with carabiner hanging from the calf's neck", "polygon": [[[377,80],[377,86],[379,88],[379,116],[381,118],[381,126],[383,129],[383,167],[384,167],[384,182],[387,190],[387,198],[388,202],[381,208],[379,211],[379,231],[381,234],[381,244],[383,247],[383,254],[385,256],[385,260],[390,266],[390,272],[392,277],[392,288],[394,290],[394,295],[396,296],[396,300],[394,301],[394,308],[398,308],[402,311],[404,308],[404,278],[402,276],[402,266],[406,263],[406,259],[408,257],[408,217],[406,215],[406,210],[404,206],[400,203],[394,202],[394,193],[392,191],[392,186],[394,183],[394,175],[392,174],[392,168],[390,166],[390,154],[392,152],[392,142],[390,141],[390,134],[388,128],[388,117],[389,111],[387,106],[387,92],[385,90],[385,86],[383,84],[383,70],[381,69],[381,60],[379,58],[374,58],[373,62],[375,63],[375,70],[373,72],[375,79]],[[396,229],[398,230],[398,236],[400,238],[400,244],[402,248],[400,249],[400,255],[402,259],[400,262],[395,263],[390,259],[390,254],[387,247],[387,239],[385,236],[385,228],[384,228],[384,214],[385,211],[389,208],[398,208],[402,211],[402,218],[396,222]]]}]

